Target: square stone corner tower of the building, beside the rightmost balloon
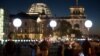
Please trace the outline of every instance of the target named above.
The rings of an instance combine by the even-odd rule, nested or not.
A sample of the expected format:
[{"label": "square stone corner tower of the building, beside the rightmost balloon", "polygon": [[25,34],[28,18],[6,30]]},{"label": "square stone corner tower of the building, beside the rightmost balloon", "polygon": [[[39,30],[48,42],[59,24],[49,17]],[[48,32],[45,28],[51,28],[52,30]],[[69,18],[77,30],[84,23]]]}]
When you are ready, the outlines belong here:
[{"label": "square stone corner tower of the building, beside the rightmost balloon", "polygon": [[84,25],[86,21],[86,15],[84,13],[84,7],[72,6],[70,7],[70,19],[67,21],[72,25],[72,29],[79,29],[83,34],[87,34],[87,29]]}]

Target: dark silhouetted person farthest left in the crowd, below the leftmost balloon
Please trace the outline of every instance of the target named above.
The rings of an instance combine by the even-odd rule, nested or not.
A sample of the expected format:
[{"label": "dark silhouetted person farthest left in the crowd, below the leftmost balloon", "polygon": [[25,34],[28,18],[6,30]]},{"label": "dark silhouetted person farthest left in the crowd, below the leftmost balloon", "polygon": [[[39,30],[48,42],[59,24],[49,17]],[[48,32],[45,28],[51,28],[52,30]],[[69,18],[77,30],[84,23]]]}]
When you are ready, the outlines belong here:
[{"label": "dark silhouetted person farthest left in the crowd, below the leftmost balloon", "polygon": [[12,33],[8,35],[8,41],[4,46],[4,55],[5,56],[14,56],[16,51],[15,42],[12,41]]}]

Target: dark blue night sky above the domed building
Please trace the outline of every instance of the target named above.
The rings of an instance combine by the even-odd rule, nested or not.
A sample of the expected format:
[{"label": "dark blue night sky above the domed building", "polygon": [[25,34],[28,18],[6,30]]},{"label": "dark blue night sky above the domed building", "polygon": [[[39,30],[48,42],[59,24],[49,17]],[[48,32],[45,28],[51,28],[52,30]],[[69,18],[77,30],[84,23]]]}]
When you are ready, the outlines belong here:
[{"label": "dark blue night sky above the domed building", "polygon": [[[44,2],[56,16],[68,16],[69,7],[75,5],[75,0],[0,0],[0,6],[8,13],[27,12],[33,3]],[[100,0],[79,0],[79,5],[85,7],[87,19],[93,21],[92,33],[100,34]]]}]

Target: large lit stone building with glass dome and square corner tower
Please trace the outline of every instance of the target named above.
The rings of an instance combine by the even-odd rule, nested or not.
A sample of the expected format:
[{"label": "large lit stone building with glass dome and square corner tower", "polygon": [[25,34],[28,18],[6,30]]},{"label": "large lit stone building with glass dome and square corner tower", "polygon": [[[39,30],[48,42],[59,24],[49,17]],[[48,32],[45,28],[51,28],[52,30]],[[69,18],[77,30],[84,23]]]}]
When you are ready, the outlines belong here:
[{"label": "large lit stone building with glass dome and square corner tower", "polygon": [[[17,37],[18,39],[41,39],[42,37],[48,37],[49,35],[52,35],[53,32],[59,35],[60,31],[56,29],[61,27],[60,22],[64,20],[71,24],[71,29],[80,30],[82,34],[87,34],[87,29],[84,26],[84,23],[86,21],[84,7],[72,6],[69,9],[69,16],[53,17],[50,9],[46,4],[32,4],[27,13],[21,12],[16,15],[10,16],[11,21],[9,21],[9,32],[13,32],[13,37]],[[15,18],[20,18],[22,20],[22,25],[18,29],[16,29],[12,24]],[[57,27],[55,27],[55,30],[52,30],[52,28],[49,26],[49,23],[52,19],[57,21]],[[37,20],[39,20],[40,22],[37,22]]]}]

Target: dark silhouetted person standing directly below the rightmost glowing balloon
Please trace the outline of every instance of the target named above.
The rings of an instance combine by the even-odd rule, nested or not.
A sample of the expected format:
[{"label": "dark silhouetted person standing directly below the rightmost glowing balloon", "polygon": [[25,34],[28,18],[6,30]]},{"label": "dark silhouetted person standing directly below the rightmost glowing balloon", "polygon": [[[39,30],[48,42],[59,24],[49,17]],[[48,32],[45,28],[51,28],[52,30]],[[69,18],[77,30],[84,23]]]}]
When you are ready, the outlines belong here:
[{"label": "dark silhouetted person standing directly below the rightmost glowing balloon", "polygon": [[87,38],[83,42],[82,48],[83,48],[84,56],[90,56],[91,55],[91,45],[90,45],[90,43],[89,43]]}]

